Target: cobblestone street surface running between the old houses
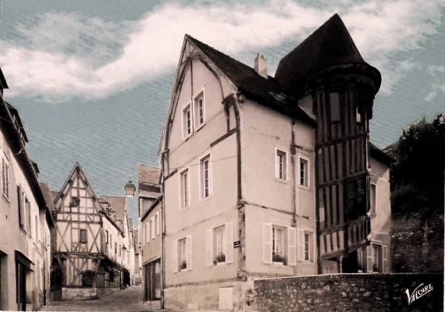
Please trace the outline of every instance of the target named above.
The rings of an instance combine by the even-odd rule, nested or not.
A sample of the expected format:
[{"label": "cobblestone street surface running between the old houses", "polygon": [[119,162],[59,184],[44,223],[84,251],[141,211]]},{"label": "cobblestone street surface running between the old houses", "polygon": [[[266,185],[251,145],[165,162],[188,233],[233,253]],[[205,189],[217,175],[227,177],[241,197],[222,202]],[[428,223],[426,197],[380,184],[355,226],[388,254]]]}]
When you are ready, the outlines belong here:
[{"label": "cobblestone street surface running between the old houses", "polygon": [[159,311],[142,299],[143,287],[132,286],[97,300],[51,302],[40,311]]}]

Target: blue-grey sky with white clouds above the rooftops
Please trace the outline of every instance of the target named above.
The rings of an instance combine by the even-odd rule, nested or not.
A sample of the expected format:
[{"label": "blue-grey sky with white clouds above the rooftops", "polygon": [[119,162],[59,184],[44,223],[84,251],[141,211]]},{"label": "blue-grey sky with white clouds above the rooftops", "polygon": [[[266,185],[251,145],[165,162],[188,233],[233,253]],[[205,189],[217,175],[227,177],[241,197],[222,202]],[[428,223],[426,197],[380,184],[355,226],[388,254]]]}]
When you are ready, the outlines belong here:
[{"label": "blue-grey sky with white clouds above the rooftops", "polygon": [[[445,112],[444,1],[6,1],[0,67],[40,180],[59,190],[79,162],[97,195],[124,195],[156,166],[186,33],[273,76],[280,59],[338,13],[382,73],[371,141]],[[137,220],[136,200],[127,202]]]}]

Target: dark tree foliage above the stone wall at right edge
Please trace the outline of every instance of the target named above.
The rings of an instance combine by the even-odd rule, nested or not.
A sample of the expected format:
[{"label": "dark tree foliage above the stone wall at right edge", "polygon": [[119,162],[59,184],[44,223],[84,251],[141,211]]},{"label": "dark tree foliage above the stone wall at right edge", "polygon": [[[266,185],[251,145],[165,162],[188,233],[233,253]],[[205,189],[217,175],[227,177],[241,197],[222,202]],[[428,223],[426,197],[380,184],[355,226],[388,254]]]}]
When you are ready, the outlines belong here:
[{"label": "dark tree foliage above the stone wall at right edge", "polygon": [[444,207],[445,116],[425,118],[403,129],[396,143],[385,148],[391,165],[393,213],[442,213]]}]

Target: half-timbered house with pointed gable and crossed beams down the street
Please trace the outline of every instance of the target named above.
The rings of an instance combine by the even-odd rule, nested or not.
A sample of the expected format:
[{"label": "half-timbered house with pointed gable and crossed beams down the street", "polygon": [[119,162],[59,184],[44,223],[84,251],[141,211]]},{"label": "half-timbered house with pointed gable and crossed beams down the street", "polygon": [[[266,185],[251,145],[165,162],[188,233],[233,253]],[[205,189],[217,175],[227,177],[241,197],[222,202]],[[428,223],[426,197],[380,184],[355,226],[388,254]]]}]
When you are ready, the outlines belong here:
[{"label": "half-timbered house with pointed gable and crossed beams down the street", "polygon": [[79,163],[51,192],[56,227],[51,289],[55,300],[101,297],[130,284],[125,199],[95,195]]}]

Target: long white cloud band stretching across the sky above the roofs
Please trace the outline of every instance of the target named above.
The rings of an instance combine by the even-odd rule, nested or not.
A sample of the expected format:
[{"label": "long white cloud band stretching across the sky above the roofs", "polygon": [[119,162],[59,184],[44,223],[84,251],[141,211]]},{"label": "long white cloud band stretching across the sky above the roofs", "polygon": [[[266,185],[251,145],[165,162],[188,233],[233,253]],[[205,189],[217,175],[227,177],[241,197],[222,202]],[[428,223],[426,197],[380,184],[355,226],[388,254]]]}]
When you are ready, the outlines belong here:
[{"label": "long white cloud band stretching across the sky above the roofs", "polygon": [[418,49],[425,35],[437,31],[438,7],[434,2],[376,0],[339,0],[334,10],[273,0],[254,7],[168,4],[134,23],[51,12],[35,26],[17,26],[24,42],[0,41],[0,65],[11,88],[8,96],[104,98],[174,69],[184,33],[237,55],[302,39],[339,12],[364,58],[382,71],[382,90],[389,92],[411,69],[405,64],[399,73],[386,71],[391,57]]}]

